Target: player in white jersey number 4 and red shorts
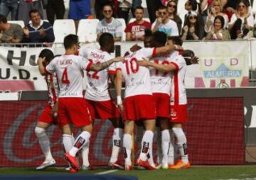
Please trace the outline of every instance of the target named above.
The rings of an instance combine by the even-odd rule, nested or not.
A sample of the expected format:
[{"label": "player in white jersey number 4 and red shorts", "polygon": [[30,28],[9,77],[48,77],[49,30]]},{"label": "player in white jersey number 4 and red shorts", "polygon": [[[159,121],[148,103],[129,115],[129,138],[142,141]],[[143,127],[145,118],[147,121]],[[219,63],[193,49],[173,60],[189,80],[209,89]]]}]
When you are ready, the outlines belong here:
[{"label": "player in white jersey number 4 and red shorts", "polygon": [[[41,74],[54,73],[58,76],[60,94],[58,97],[58,118],[63,130],[63,144],[66,150],[65,159],[70,162],[73,169],[80,170],[75,155],[85,143],[89,142],[92,133],[92,118],[90,116],[87,101],[82,96],[83,70],[99,72],[110,66],[113,62],[123,60],[116,57],[107,62],[93,64],[75,54],[78,53],[78,35],[67,35],[64,38],[65,55],[55,57],[46,67],[43,60],[38,61]],[[72,143],[72,131],[70,124],[79,127],[82,133]]]}]

